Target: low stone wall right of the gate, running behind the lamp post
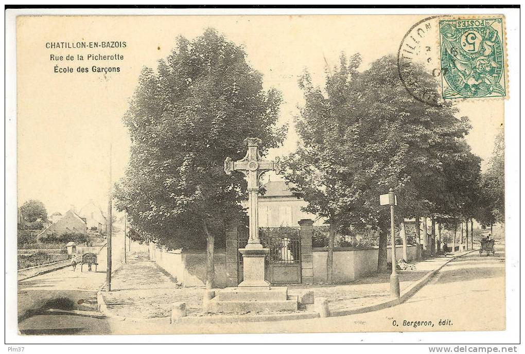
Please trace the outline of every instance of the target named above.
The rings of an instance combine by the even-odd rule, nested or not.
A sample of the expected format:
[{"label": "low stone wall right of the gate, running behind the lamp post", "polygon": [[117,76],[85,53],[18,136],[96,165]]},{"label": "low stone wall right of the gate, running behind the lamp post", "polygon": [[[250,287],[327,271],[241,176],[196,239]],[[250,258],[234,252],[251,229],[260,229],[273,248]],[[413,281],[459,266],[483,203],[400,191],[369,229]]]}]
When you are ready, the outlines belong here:
[{"label": "low stone wall right of the gate, running behind the lamp post", "polygon": [[[333,252],[333,282],[347,283],[356,281],[377,271],[377,248],[356,250],[353,248],[335,248]],[[403,246],[396,246],[396,259],[403,256]],[[327,280],[326,248],[313,249],[313,282],[323,283]],[[387,249],[388,260],[392,259],[392,248]],[[421,259],[421,246],[407,246],[408,261]]]}]

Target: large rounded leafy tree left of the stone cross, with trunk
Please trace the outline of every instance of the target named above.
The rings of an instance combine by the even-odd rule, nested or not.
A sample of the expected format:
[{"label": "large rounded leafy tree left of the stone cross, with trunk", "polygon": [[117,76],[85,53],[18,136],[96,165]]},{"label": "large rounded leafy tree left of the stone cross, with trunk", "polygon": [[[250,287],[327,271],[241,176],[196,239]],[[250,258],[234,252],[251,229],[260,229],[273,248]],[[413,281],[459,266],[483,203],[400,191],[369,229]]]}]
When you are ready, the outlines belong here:
[{"label": "large rounded leafy tree left of the stone cross, with trunk", "polygon": [[226,224],[243,217],[241,174],[224,173],[224,159],[244,157],[246,137],[264,147],[282,143],[276,127],[280,93],[265,91],[240,46],[213,29],[180,37],[156,71],[145,68],[124,123],[130,162],[116,187],[133,234],[167,248],[207,249],[206,286],[213,284],[213,248]]}]

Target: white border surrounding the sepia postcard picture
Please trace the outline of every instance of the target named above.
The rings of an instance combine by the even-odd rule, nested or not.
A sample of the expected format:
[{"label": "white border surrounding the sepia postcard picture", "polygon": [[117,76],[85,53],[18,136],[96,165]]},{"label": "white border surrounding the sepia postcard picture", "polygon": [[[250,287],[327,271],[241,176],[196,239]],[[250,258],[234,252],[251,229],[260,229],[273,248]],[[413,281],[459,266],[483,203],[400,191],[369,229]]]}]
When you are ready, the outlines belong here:
[{"label": "white border surrounding the sepia postcard picture", "polygon": [[[306,14],[503,14],[507,22],[507,48],[509,65],[509,92],[510,99],[505,103],[505,142],[506,142],[506,306],[507,306],[507,330],[489,332],[386,332],[386,333],[328,333],[328,334],[274,334],[274,335],[177,335],[177,336],[18,336],[16,317],[16,238],[6,239],[5,258],[5,301],[6,314],[6,337],[7,343],[18,344],[56,344],[59,343],[513,343],[519,339],[520,329],[520,200],[525,196],[517,193],[520,190],[520,15],[519,9],[501,8],[440,8],[440,9],[416,9],[416,8],[393,8],[393,9],[8,9],[5,12],[5,233],[16,235],[16,33],[15,19],[19,15],[306,15]],[[13,271],[14,270],[14,271]],[[26,350],[33,347],[42,350],[41,346],[28,346]],[[423,346],[417,351],[428,349]],[[104,350],[106,348],[107,350]],[[232,349],[233,348],[233,349]],[[167,349],[167,348],[164,348]],[[190,348],[185,348],[191,350]],[[242,350],[238,347],[210,347],[209,350],[223,351]],[[297,348],[297,350],[323,350],[319,346]],[[354,348],[355,350],[358,348]],[[374,350],[372,348],[362,348]],[[49,348],[51,351],[51,348]],[[130,347],[100,347],[79,346],[75,349],[70,346],[52,346],[53,352],[75,353],[90,352],[98,350],[129,352],[148,350],[142,346]],[[152,347],[151,350],[161,350],[160,347]],[[177,350],[184,350],[177,347]],[[256,348],[245,348],[250,352],[259,351]],[[263,349],[266,351],[267,349]],[[284,347],[282,350],[290,350]],[[330,350],[330,349],[329,349]],[[358,349],[360,350],[360,349]],[[379,346],[378,351],[388,350],[391,353],[415,352],[414,347]],[[34,351],[34,350],[31,350]]]}]

